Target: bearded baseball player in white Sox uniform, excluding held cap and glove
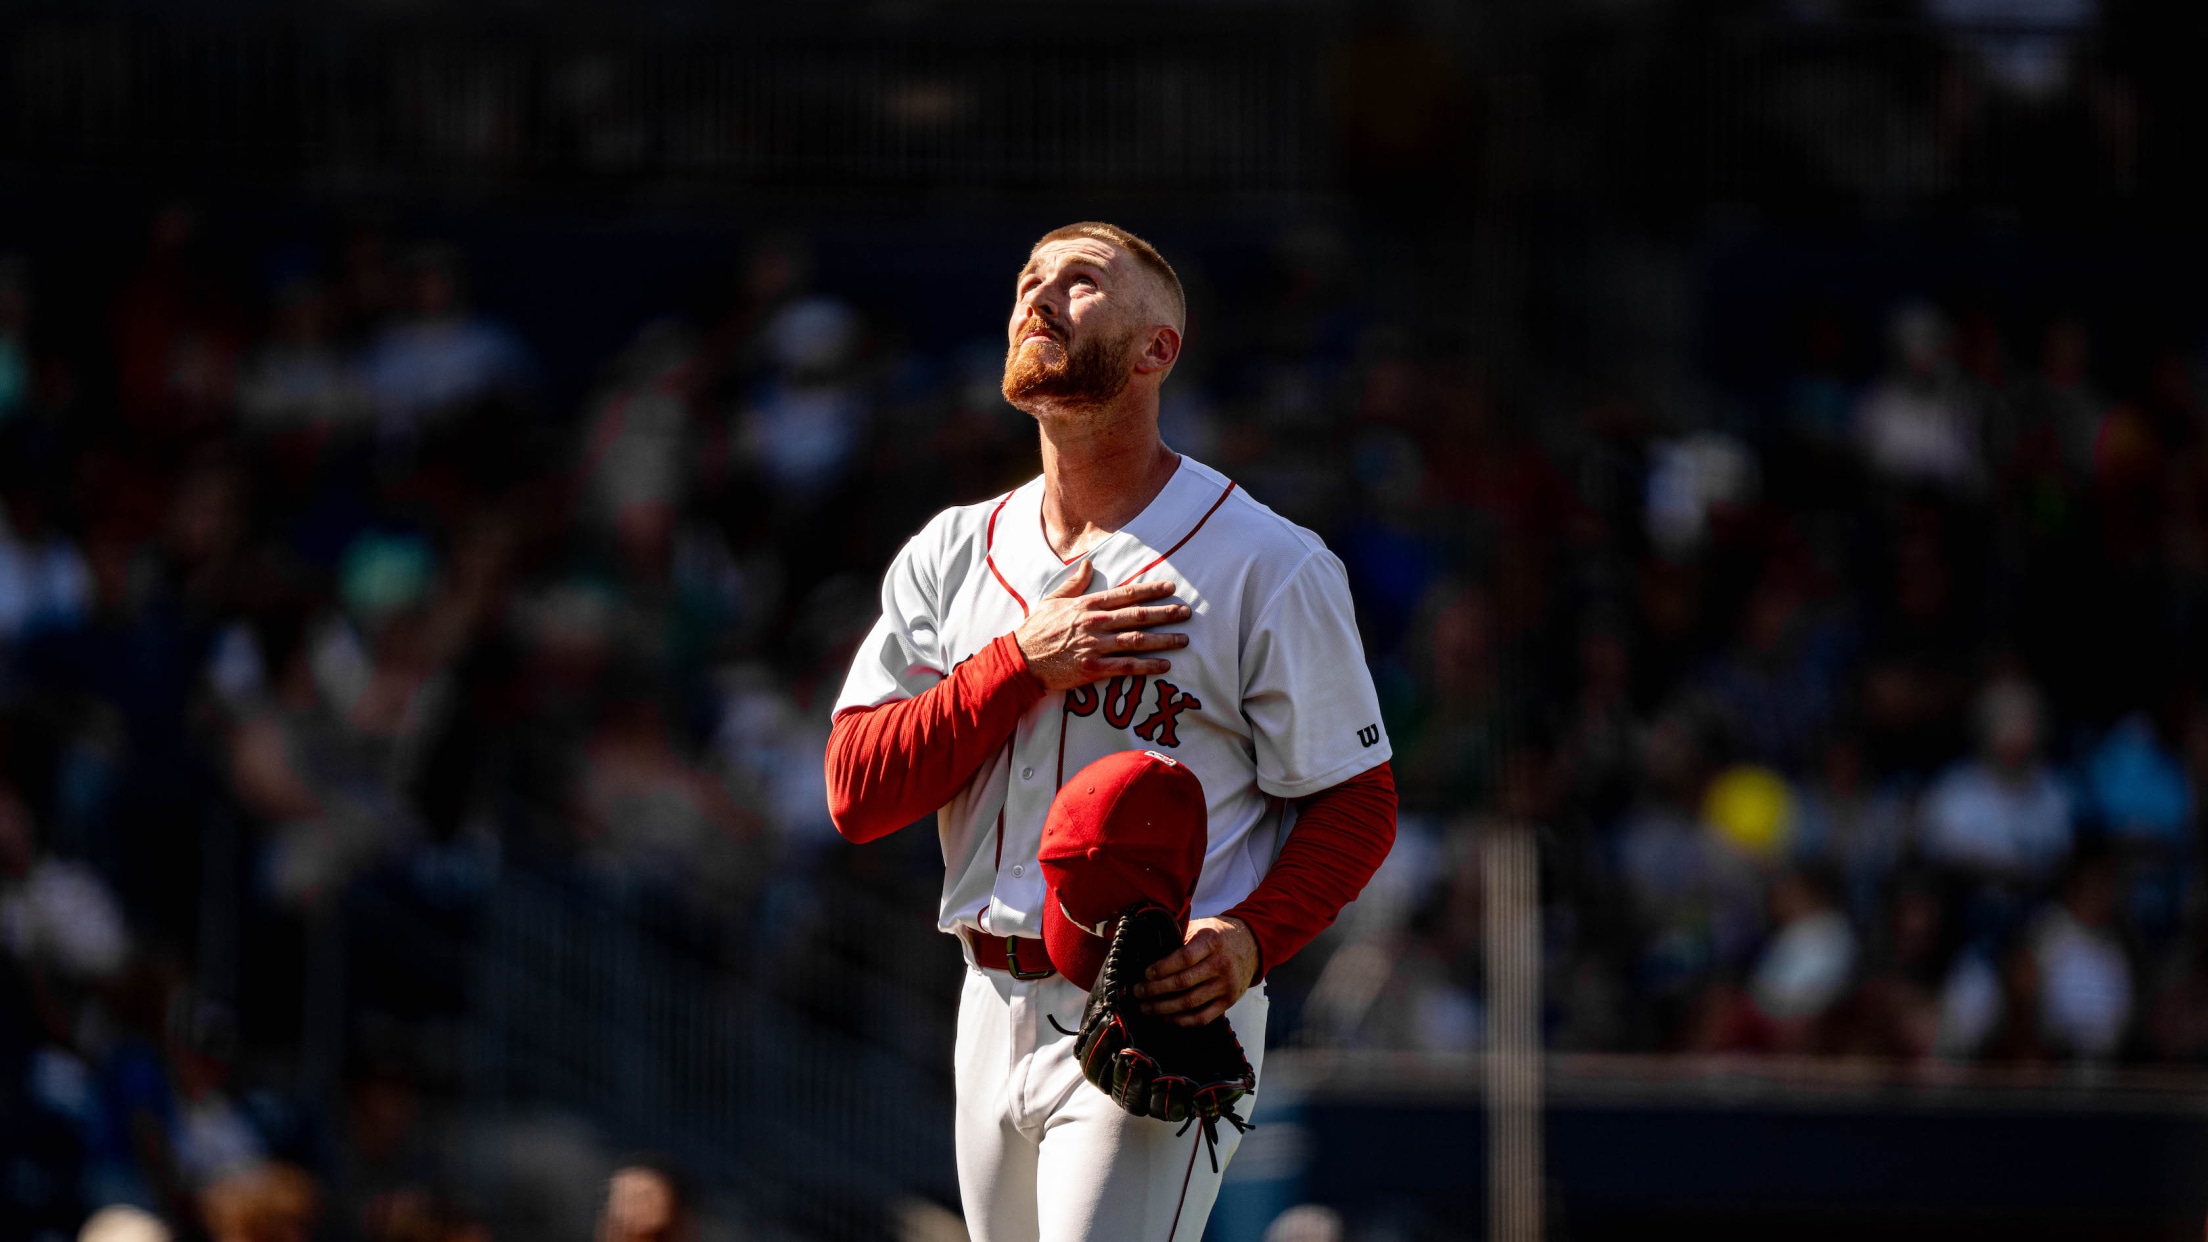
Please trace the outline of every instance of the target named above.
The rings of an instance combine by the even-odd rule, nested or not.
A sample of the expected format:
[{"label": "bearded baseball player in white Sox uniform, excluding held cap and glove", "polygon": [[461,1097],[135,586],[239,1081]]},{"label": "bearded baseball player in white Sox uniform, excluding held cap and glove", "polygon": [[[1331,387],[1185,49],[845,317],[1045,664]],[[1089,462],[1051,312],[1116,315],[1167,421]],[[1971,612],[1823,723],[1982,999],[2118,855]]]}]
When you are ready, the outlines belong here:
[{"label": "bearded baseball player in white Sox uniform, excluding held cap and glove", "polygon": [[[1186,941],[1144,1010],[1225,1014],[1259,1072],[1263,979],[1358,895],[1395,838],[1387,725],[1340,561],[1157,433],[1186,303],[1164,256],[1106,223],[1020,267],[1005,400],[1042,477],[936,515],[890,564],[828,743],[837,829],[936,815],[938,926],[958,1008],[958,1189],[976,1242],[1195,1240],[1219,1193],[1195,1134],[1082,1076],[1086,994],[1040,939],[1038,846],[1058,789],[1148,749],[1186,765],[1208,831]],[[1219,1143],[1221,1167],[1239,1143]]]}]

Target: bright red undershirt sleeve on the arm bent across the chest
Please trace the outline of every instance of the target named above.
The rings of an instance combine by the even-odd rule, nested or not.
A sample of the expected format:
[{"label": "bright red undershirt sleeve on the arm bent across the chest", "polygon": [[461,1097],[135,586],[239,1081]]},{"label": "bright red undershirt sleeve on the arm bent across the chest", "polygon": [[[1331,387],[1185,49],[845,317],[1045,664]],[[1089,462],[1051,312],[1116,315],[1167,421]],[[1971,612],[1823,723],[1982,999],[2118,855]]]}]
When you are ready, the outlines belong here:
[{"label": "bright red undershirt sleeve on the arm bent across the chest", "polygon": [[828,731],[828,818],[866,844],[932,815],[965,789],[1042,698],[1011,634],[925,692],[846,707]]}]

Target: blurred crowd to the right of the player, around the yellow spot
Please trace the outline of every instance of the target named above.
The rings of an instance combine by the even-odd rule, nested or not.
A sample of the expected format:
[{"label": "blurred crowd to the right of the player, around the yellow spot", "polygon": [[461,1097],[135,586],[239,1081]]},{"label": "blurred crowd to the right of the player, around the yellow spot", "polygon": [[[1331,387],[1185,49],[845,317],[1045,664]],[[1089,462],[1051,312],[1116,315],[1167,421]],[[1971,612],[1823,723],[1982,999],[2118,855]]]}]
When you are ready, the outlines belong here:
[{"label": "blurred crowd to the right of the player, around the yellow spot", "polygon": [[1409,831],[1305,1036],[1477,1048],[1488,820],[1541,833],[1552,1048],[2197,1061],[2199,360],[2091,340],[1804,298],[1777,396],[1674,431],[1369,371]]}]

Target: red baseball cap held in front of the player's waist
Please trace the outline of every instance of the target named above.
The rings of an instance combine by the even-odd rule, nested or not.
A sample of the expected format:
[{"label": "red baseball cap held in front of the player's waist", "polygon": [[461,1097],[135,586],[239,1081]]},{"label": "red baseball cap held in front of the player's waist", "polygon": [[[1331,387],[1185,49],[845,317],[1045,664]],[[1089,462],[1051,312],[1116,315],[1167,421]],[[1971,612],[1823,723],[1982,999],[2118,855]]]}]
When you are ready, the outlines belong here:
[{"label": "red baseball cap held in front of the player's waist", "polygon": [[1164,906],[1188,924],[1210,815],[1203,782],[1157,751],[1108,754],[1080,769],[1042,820],[1042,948],[1089,990],[1128,906]]}]

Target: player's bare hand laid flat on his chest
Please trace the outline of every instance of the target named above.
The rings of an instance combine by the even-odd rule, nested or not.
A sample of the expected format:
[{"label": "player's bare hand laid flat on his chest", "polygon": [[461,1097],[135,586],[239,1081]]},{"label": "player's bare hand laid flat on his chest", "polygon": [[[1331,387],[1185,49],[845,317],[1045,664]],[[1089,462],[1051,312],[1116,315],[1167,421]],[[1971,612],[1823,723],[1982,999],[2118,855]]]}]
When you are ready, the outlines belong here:
[{"label": "player's bare hand laid flat on his chest", "polygon": [[1049,690],[1073,690],[1108,676],[1157,676],[1172,667],[1157,652],[1188,645],[1188,634],[1150,630],[1188,621],[1186,603],[1157,603],[1172,594],[1175,583],[1137,581],[1082,594],[1093,575],[1095,568],[1084,559],[1011,632],[1027,656],[1027,672]]}]

